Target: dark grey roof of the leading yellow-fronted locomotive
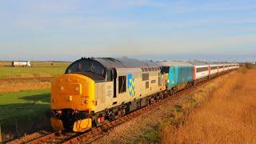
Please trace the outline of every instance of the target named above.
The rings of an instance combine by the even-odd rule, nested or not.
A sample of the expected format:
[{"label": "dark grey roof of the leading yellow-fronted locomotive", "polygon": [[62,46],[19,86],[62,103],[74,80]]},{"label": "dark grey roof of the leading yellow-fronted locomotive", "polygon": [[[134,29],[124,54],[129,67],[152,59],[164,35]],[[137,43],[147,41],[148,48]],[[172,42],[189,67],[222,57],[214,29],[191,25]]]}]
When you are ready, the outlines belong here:
[{"label": "dark grey roof of the leading yellow-fronted locomotive", "polygon": [[[86,58],[84,58],[86,59]],[[100,62],[107,68],[134,68],[134,67],[158,67],[153,61],[141,61],[132,58],[88,58]]]}]

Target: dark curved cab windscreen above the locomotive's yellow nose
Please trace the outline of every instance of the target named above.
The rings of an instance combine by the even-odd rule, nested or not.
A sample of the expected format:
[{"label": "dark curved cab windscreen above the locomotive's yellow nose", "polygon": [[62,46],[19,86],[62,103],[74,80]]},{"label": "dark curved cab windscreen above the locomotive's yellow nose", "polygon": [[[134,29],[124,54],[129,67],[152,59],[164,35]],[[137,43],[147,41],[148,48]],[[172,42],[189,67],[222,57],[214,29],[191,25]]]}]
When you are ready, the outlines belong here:
[{"label": "dark curved cab windscreen above the locomotive's yellow nose", "polygon": [[81,59],[72,63],[66,74],[83,74],[94,80],[105,80],[106,69],[101,63],[91,59]]}]

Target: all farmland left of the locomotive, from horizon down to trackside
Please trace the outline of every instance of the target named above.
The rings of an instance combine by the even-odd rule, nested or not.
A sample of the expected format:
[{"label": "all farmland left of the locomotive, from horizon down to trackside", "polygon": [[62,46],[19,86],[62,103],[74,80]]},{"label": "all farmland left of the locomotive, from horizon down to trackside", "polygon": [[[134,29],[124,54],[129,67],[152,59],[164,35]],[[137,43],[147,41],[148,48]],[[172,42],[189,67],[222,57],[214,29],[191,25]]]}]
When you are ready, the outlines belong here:
[{"label": "all farmland left of the locomotive, from horizon down to trackside", "polygon": [[6,140],[50,129],[50,86],[70,62],[0,62],[0,123]]}]

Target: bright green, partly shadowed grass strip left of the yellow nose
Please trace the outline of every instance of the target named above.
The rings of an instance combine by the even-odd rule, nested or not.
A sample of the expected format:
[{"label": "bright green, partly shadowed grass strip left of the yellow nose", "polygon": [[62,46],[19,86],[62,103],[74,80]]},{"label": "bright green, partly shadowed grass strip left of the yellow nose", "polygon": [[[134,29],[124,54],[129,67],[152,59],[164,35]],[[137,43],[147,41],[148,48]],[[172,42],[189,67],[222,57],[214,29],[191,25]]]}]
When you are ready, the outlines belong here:
[{"label": "bright green, partly shadowed grass strip left of the yellow nose", "polygon": [[50,111],[50,90],[24,90],[0,94],[2,122],[33,118]]}]

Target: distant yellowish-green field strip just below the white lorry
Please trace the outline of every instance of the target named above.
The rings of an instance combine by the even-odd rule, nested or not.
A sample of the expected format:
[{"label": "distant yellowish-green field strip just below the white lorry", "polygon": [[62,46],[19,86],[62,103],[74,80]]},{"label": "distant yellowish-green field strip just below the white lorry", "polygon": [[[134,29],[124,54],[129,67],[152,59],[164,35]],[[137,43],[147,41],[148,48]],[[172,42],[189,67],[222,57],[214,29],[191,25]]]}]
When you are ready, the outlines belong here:
[{"label": "distant yellowish-green field strip just below the white lorry", "polygon": [[64,74],[70,62],[31,62],[32,67],[12,67],[2,62],[0,78],[56,77]]}]

